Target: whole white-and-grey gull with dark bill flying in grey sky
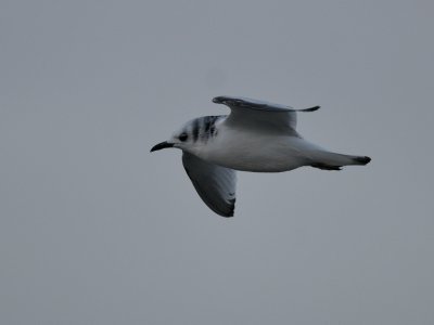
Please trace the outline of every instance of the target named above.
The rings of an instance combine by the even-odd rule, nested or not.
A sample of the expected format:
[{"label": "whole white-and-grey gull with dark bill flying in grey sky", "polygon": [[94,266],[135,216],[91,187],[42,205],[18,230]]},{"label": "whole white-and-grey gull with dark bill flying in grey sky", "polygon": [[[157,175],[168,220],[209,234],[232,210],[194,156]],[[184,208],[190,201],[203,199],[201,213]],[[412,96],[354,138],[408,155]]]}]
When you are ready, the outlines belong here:
[{"label": "whole white-and-grey gull with dark bill flying in grey sky", "polygon": [[213,102],[228,106],[230,114],[194,118],[151,152],[180,148],[199,196],[219,216],[233,217],[235,170],[281,172],[304,166],[341,170],[371,160],[332,153],[302,138],[296,131],[297,112],[315,112],[320,106],[295,109],[239,96],[217,96]]}]

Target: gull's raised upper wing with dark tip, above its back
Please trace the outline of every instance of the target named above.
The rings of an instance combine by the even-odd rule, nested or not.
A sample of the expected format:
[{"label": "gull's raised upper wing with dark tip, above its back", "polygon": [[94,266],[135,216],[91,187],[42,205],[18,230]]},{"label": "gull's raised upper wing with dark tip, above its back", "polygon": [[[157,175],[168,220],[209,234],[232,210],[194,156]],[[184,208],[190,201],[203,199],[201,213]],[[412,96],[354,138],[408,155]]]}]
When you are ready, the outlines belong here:
[{"label": "gull's raised upper wing with dark tip, above its back", "polygon": [[296,134],[297,112],[314,112],[320,106],[295,109],[291,106],[273,104],[246,98],[218,96],[214,103],[225,104],[231,114],[225,121],[233,127],[252,127],[276,132]]}]

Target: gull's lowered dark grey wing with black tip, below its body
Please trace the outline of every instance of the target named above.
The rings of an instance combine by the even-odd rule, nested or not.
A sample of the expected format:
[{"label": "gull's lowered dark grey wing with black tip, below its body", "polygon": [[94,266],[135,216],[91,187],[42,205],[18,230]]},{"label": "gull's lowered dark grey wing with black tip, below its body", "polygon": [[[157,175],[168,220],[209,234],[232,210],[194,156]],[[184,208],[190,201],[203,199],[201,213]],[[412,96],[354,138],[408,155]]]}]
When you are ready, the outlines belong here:
[{"label": "gull's lowered dark grey wing with black tip, below its body", "polygon": [[232,217],[235,208],[237,173],[183,152],[183,168],[203,202],[217,214]]}]

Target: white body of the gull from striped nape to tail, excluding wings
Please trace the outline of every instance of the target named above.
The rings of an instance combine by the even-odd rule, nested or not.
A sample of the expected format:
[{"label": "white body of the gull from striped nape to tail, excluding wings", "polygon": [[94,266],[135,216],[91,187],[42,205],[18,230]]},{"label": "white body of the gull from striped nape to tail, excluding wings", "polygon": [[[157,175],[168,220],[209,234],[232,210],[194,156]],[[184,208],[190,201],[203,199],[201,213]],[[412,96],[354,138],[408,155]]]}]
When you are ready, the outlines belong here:
[{"label": "white body of the gull from striped nape to tail, excluding wings", "polygon": [[[361,165],[348,156],[331,153],[286,130],[255,126],[233,127],[226,115],[204,116],[186,125],[193,134],[189,152],[205,161],[240,171],[281,172],[303,166]],[[197,134],[197,135],[194,135]]]}]

